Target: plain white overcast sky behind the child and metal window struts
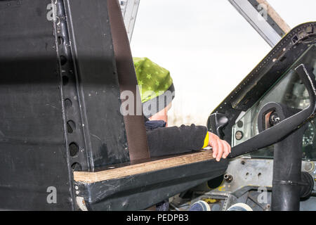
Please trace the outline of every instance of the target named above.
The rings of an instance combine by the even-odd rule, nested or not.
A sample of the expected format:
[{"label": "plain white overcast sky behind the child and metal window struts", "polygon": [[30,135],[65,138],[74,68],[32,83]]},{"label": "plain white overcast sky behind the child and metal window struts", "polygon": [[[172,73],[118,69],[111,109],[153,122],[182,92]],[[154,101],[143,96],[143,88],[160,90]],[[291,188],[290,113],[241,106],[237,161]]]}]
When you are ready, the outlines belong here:
[{"label": "plain white overcast sky behind the child and metal window struts", "polygon": [[[268,2],[290,27],[316,20],[315,0]],[[228,0],[140,0],[131,41],[133,56],[171,72],[170,125],[205,125],[270,49]]]}]

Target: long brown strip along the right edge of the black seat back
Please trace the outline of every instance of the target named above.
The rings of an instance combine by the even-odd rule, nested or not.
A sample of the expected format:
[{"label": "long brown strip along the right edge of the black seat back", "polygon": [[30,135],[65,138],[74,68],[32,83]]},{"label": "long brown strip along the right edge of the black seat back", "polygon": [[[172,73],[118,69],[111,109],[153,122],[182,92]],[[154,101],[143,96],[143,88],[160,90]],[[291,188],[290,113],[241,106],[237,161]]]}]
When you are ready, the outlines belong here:
[{"label": "long brown strip along the right edge of the black seat back", "polygon": [[[129,155],[131,160],[150,158],[144,116],[136,115],[136,102],[140,102],[140,96],[139,90],[136,87],[136,72],[119,2],[117,0],[107,0],[107,9],[109,12],[119,87],[121,92],[129,90],[134,95],[134,115],[124,116]],[[138,94],[136,94],[137,91]]]}]

